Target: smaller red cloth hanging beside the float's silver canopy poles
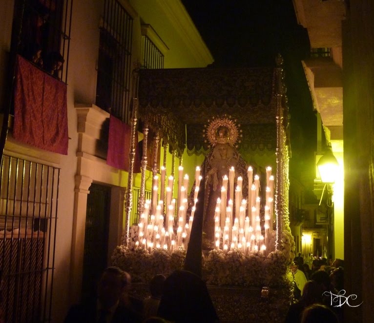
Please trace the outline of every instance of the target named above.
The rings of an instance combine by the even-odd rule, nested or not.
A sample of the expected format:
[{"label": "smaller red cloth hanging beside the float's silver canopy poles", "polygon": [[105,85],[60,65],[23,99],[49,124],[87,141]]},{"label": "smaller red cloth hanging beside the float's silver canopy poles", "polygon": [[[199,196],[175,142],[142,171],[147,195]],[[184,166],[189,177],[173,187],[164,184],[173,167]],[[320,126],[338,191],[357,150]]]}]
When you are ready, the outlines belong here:
[{"label": "smaller red cloth hanging beside the float's silver canopy poles", "polygon": [[[130,152],[131,127],[121,120],[110,116],[109,139],[106,164],[128,172]],[[135,132],[135,161],[133,172],[140,170],[140,152],[138,145],[138,131]]]}]

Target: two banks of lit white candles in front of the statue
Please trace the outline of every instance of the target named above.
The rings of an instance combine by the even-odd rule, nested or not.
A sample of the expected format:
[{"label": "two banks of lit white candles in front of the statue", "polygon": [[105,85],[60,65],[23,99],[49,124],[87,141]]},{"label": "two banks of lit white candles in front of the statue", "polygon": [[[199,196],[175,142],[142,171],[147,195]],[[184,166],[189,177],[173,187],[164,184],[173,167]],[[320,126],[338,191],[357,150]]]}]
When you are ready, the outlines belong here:
[{"label": "two banks of lit white candles in front of the statue", "polygon": [[[158,199],[159,176],[153,177],[152,198],[145,201],[144,212],[140,216],[138,224],[139,240],[136,242],[136,246],[148,249],[149,252],[155,248],[164,248],[170,253],[179,247],[187,249],[202,179],[200,172],[200,167],[196,167],[194,205],[188,221],[189,177],[187,174],[183,175],[183,167],[180,166],[178,169],[178,202],[172,198],[173,176],[168,177],[166,185],[166,169],[161,168],[160,199]],[[273,223],[274,176],[271,175],[271,167],[267,167],[265,224],[264,230],[262,230],[260,225],[260,178],[258,175],[253,177],[251,167],[248,168],[247,175],[248,201],[243,199],[243,178],[241,176],[237,177],[234,190],[235,169],[233,167],[229,170],[229,176],[225,175],[222,179],[221,198],[217,199],[214,223],[212,223],[215,232],[214,245],[215,249],[221,249],[224,252],[237,248],[245,254],[259,252],[266,255]],[[165,206],[164,200],[166,201]],[[175,208],[178,209],[177,219],[174,218]]]}]

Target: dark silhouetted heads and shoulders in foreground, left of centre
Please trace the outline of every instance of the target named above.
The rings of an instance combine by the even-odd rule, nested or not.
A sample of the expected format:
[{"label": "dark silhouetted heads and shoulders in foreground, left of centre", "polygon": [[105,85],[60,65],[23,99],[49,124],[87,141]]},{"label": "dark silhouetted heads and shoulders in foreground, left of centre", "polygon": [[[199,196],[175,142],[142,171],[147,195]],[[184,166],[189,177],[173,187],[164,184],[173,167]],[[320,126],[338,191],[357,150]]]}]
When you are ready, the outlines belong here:
[{"label": "dark silhouetted heads and shoulders in foreground, left of centre", "polygon": [[189,271],[155,275],[144,300],[132,297],[130,286],[127,272],[106,268],[96,295],[70,307],[64,323],[219,322],[205,282]]}]

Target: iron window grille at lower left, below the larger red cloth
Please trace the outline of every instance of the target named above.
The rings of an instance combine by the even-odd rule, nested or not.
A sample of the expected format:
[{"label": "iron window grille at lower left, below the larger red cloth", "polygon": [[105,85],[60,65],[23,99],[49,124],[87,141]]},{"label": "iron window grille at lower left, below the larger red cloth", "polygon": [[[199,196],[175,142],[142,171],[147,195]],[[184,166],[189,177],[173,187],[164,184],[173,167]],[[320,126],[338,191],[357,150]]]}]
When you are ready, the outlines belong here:
[{"label": "iron window grille at lower left, below the larger red cloth", "polygon": [[60,169],[3,155],[0,268],[4,322],[50,322]]}]

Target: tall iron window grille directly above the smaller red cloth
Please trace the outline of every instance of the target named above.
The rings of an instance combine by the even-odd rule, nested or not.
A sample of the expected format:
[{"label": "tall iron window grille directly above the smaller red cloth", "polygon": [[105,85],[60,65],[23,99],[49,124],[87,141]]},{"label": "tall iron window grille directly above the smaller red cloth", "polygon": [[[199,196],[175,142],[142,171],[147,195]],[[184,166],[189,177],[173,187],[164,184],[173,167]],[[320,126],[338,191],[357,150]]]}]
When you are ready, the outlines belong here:
[{"label": "tall iron window grille directly above the smaller red cloth", "polygon": [[133,19],[118,0],[105,0],[100,23],[96,105],[130,122]]}]

